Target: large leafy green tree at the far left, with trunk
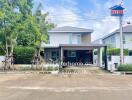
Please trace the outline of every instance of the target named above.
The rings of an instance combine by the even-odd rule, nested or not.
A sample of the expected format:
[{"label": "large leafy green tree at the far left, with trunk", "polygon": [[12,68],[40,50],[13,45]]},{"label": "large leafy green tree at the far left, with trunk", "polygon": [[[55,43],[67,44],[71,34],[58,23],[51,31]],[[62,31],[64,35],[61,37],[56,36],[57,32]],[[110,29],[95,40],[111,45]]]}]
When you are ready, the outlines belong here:
[{"label": "large leafy green tree at the far left, with trunk", "polygon": [[32,1],[0,1],[0,43],[6,53],[5,68],[12,66],[13,49],[19,33],[34,32],[36,34],[38,32],[37,23],[35,23],[36,19],[32,16]]}]

